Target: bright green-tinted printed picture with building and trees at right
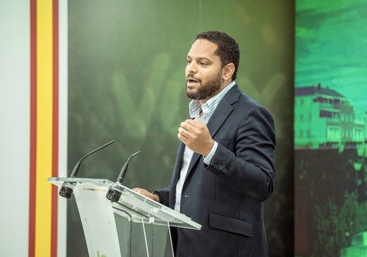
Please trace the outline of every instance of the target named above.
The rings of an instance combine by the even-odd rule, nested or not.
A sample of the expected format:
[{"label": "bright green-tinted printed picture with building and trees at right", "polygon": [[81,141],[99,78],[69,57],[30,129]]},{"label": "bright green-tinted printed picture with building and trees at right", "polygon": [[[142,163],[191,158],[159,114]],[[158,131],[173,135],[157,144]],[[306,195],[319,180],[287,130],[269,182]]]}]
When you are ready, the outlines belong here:
[{"label": "bright green-tinted printed picture with building and trees at right", "polygon": [[367,1],[296,1],[295,256],[367,256]]}]

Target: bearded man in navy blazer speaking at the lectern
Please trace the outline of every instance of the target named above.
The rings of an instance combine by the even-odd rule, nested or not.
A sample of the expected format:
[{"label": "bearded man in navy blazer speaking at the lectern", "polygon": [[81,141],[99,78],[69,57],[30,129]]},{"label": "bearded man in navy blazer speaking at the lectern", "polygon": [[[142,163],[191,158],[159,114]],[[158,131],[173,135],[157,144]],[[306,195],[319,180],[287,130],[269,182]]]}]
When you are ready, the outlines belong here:
[{"label": "bearded man in navy blazer speaking at the lectern", "polygon": [[[273,193],[273,117],[235,84],[239,47],[226,33],[196,36],[188,53],[190,117],[171,185],[134,190],[202,225],[172,233],[176,255],[268,256],[263,202]],[[176,238],[175,238],[176,237]]]}]

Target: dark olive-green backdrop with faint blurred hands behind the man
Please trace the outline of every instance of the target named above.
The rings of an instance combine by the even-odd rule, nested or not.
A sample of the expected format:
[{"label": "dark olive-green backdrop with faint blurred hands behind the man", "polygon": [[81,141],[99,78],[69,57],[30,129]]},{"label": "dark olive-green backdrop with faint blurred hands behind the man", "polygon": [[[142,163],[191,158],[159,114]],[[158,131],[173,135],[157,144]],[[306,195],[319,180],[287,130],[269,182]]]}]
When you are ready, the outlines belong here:
[{"label": "dark olive-green backdrop with faint blurred hands behind the man", "polygon": [[[179,123],[188,115],[186,54],[193,38],[221,30],[239,43],[236,83],[269,109],[277,132],[276,180],[264,204],[269,256],[293,255],[294,4],[290,1],[69,1],[68,170],[124,185],[167,187]],[[87,253],[76,204],[68,202],[68,256]]]}]

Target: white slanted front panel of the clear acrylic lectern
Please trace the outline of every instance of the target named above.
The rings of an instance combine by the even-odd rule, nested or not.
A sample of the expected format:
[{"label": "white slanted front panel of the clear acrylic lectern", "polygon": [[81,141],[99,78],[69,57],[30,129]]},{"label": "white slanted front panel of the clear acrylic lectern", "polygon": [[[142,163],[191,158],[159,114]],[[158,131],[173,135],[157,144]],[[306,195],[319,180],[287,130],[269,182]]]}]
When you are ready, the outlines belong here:
[{"label": "white slanted front panel of the clear acrylic lectern", "polygon": [[115,217],[106,192],[78,189],[77,186],[73,191],[89,256],[121,256]]}]

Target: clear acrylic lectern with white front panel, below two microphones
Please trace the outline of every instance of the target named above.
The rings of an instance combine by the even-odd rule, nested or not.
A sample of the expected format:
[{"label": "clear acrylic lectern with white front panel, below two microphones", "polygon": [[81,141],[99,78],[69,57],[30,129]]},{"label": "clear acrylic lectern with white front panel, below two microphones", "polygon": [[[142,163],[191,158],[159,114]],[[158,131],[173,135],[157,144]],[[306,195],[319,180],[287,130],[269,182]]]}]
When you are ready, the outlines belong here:
[{"label": "clear acrylic lectern with white front panel, below two microphones", "polygon": [[89,256],[173,257],[170,226],[201,228],[189,217],[109,180],[48,181],[72,189]]}]

